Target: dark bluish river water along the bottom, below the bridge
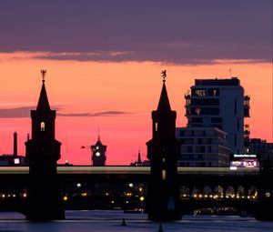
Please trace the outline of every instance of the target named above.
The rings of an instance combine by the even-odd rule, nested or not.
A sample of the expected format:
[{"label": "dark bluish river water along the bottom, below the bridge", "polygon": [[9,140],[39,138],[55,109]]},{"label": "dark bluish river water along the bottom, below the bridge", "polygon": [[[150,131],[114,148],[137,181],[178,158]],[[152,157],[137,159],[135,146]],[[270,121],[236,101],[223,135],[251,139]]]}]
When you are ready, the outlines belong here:
[{"label": "dark bluish river water along the bottom, below the bridge", "polygon": [[[123,211],[66,211],[66,220],[34,223],[13,212],[0,212],[0,231],[5,232],[94,232],[94,231],[158,231],[159,224],[147,220],[145,214]],[[126,218],[126,226],[120,226]],[[187,216],[183,220],[163,223],[163,231],[181,232],[272,232],[273,222],[259,222],[252,217]]]}]

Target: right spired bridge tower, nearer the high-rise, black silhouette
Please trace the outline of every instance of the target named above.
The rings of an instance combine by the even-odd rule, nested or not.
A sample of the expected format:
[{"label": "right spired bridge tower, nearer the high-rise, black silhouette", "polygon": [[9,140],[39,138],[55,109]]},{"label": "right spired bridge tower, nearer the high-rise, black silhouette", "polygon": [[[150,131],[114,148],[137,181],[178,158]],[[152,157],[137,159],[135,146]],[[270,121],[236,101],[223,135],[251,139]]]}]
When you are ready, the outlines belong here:
[{"label": "right spired bridge tower, nearer the high-rise, black silhouette", "polygon": [[167,97],[166,71],[157,110],[152,112],[153,137],[147,142],[147,158],[151,173],[147,187],[148,219],[157,221],[180,219],[177,160],[180,144],[176,138],[177,112],[171,110]]}]

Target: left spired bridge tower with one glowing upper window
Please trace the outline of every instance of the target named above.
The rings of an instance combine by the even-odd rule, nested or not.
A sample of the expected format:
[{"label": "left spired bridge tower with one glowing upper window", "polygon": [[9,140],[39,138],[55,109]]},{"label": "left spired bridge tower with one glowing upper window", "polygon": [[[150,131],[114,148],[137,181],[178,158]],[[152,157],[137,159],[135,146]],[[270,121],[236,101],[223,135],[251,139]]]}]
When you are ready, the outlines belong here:
[{"label": "left spired bridge tower with one glowing upper window", "polygon": [[56,162],[61,143],[55,138],[56,110],[51,110],[45,90],[45,70],[36,110],[31,110],[32,137],[25,142],[29,161],[28,205],[26,219],[56,220],[65,218],[57,180]]}]

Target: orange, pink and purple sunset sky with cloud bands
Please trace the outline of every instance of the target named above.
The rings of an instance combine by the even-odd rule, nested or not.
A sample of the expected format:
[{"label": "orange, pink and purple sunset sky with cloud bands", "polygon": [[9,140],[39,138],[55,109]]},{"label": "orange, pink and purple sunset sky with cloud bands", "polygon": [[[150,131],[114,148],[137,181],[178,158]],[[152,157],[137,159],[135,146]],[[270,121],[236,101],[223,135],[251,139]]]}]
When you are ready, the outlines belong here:
[{"label": "orange, pink and purple sunset sky with cloud bands", "polygon": [[186,126],[196,78],[238,76],[251,97],[251,137],[272,142],[272,1],[0,1],[0,154],[25,156],[40,69],[62,158],[91,164],[97,130],[108,165],[147,159],[151,111],[167,92]]}]

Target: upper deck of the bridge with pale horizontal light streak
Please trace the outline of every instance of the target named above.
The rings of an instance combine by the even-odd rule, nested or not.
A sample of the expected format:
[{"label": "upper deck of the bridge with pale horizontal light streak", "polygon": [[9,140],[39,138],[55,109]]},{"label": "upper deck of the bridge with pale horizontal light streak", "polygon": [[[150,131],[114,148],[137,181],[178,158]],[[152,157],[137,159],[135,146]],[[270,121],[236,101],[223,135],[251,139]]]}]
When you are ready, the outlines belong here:
[{"label": "upper deck of the bridge with pale horizontal light streak", "polygon": [[[1,186],[25,186],[28,166],[1,166]],[[149,166],[57,166],[61,184],[70,183],[147,183]],[[180,187],[206,186],[255,186],[258,184],[258,168],[228,167],[178,167],[177,184]]]}]

